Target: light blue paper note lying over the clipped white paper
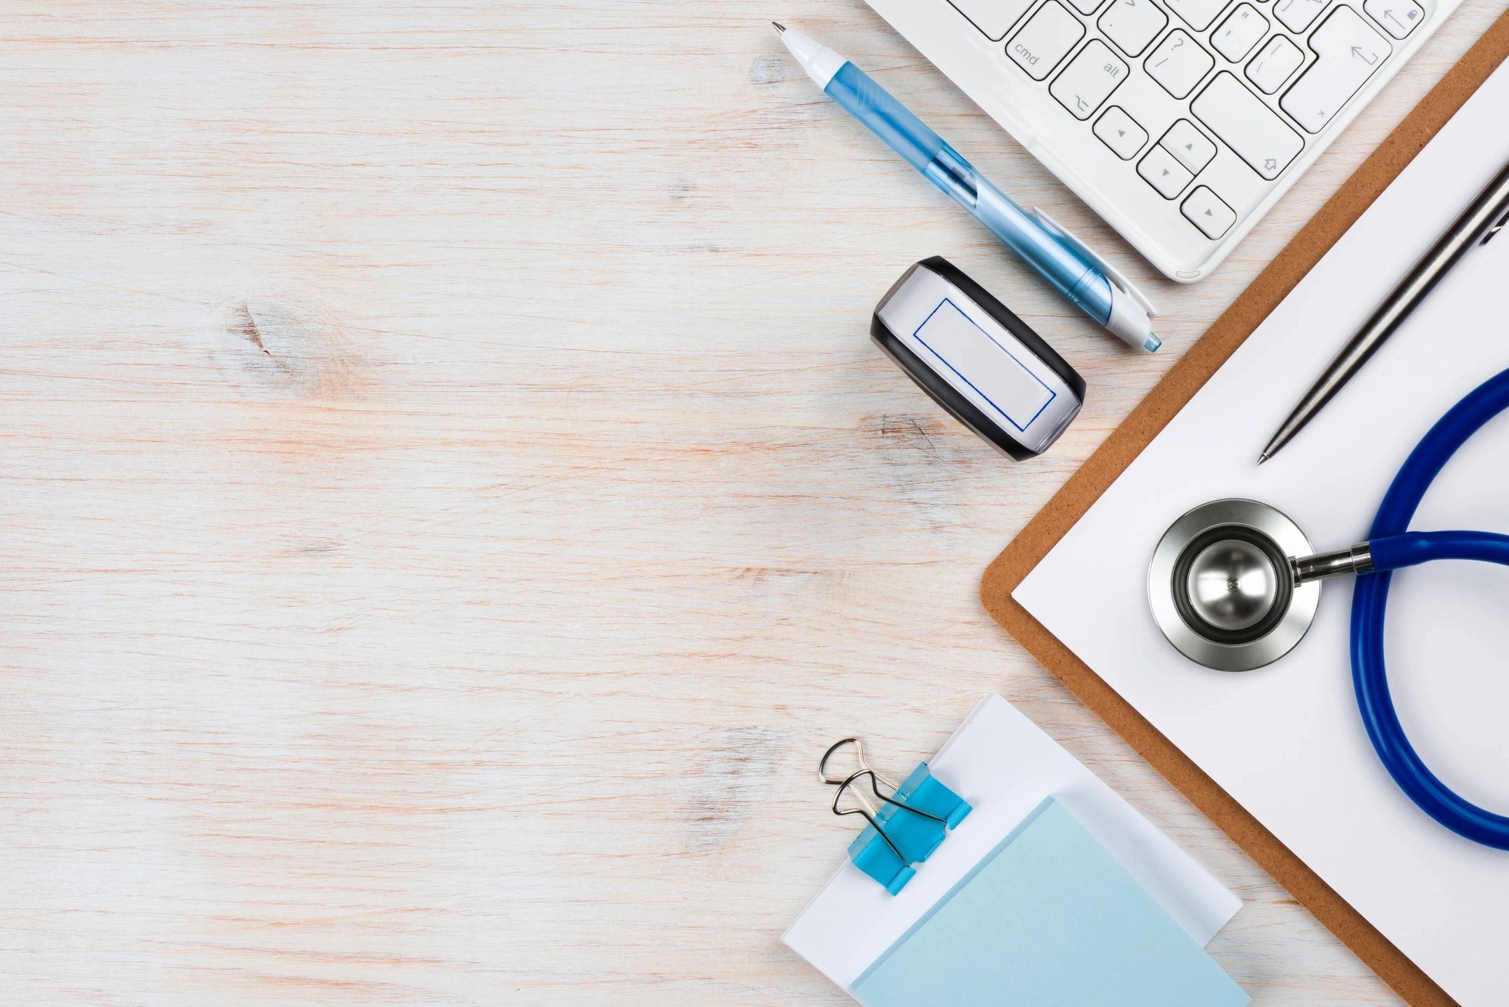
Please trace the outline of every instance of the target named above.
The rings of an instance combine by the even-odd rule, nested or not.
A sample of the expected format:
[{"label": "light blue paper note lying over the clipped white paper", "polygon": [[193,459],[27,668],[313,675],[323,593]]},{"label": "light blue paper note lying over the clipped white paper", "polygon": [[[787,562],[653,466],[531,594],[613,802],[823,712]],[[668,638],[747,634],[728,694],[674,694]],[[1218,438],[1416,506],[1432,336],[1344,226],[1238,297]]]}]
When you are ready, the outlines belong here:
[{"label": "light blue paper note lying over the clipped white paper", "polygon": [[853,984],[866,1007],[1242,1007],[1246,993],[1049,799]]}]

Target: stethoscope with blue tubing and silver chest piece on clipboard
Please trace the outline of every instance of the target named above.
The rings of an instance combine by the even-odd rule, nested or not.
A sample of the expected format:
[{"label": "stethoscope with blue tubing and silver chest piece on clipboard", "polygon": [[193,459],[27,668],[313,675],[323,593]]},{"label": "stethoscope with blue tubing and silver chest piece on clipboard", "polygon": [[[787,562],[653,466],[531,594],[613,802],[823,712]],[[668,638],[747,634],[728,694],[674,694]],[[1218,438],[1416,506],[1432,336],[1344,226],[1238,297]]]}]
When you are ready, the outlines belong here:
[{"label": "stethoscope with blue tubing and silver chest piece on clipboard", "polygon": [[1458,796],[1426,767],[1405,737],[1384,669],[1388,571],[1426,560],[1509,565],[1509,536],[1489,531],[1409,531],[1432,480],[1491,418],[1509,408],[1509,370],[1488,379],[1441,417],[1405,460],[1373,518],[1369,540],[1313,554],[1284,513],[1255,500],[1215,500],[1163,533],[1148,569],[1147,596],[1168,642],[1221,672],[1246,672],[1287,654],[1304,637],[1320,583],[1358,574],[1352,590],[1352,685],[1367,737],[1394,782],[1447,829],[1509,850],[1509,817]]}]

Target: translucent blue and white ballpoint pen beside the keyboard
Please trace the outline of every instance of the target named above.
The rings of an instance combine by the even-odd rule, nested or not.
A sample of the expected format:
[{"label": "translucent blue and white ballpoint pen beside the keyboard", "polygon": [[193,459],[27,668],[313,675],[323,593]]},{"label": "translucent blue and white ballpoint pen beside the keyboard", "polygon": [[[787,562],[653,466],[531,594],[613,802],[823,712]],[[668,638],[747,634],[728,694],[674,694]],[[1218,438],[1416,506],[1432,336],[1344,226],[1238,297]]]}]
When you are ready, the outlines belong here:
[{"label": "translucent blue and white ballpoint pen beside the keyboard", "polygon": [[1127,346],[1148,352],[1162,346],[1153,335],[1153,305],[1083,242],[1041,210],[1028,213],[1013,202],[859,66],[801,32],[776,29],[825,95],[973,213],[1073,305]]}]

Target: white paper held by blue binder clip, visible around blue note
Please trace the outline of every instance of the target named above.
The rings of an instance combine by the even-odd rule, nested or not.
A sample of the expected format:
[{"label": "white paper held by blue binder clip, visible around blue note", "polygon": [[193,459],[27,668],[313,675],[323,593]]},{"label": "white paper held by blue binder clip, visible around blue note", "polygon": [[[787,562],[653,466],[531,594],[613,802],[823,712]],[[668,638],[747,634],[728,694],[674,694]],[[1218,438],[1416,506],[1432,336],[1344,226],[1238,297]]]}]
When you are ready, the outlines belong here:
[{"label": "white paper held by blue binder clip, visible around blue note", "polygon": [[1049,796],[1058,797],[1201,945],[1242,904],[1000,696],[981,701],[928,768],[970,802],[969,817],[917,867],[899,895],[889,895],[845,861],[782,938],[845,990]]}]

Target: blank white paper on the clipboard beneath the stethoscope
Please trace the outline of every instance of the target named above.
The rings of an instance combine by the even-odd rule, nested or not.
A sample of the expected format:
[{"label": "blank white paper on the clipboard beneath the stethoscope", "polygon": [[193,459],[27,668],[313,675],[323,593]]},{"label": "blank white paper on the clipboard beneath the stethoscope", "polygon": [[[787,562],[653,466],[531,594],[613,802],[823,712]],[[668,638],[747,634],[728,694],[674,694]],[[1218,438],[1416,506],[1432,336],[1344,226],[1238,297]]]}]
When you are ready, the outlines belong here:
[{"label": "blank white paper on the clipboard beneath the stethoscope", "polygon": [[[1462,394],[1509,367],[1509,236],[1468,252],[1289,447],[1268,436],[1373,305],[1509,160],[1501,66],[1322,263],[1017,587],[1028,611],[1121,693],[1464,1007],[1509,1002],[1509,853],[1435,824],[1394,787],[1357,713],[1351,583],[1277,664],[1207,672],[1147,607],[1153,547],[1180,513],[1251,497],[1311,545],[1367,537],[1400,462]],[[1415,528],[1509,531],[1509,417],[1437,479]],[[1509,571],[1394,575],[1388,678],[1420,755],[1509,812]]]}]

